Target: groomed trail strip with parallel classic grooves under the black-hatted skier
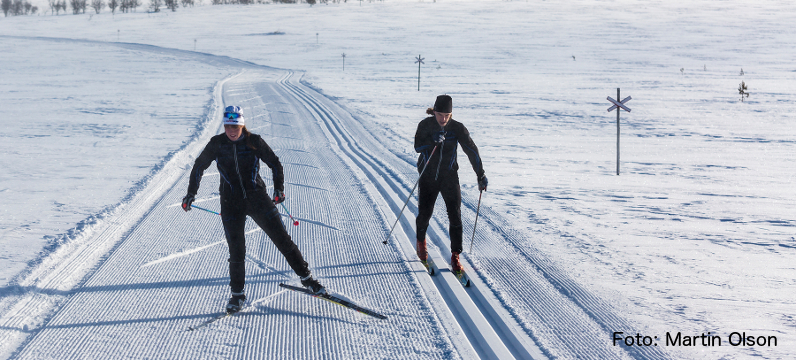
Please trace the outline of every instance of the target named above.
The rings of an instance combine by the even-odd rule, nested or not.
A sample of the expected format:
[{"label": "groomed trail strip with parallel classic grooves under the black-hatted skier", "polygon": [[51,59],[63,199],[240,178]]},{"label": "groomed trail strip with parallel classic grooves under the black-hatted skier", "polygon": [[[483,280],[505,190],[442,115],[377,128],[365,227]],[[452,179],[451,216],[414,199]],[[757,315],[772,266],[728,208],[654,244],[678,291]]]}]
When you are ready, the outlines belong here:
[{"label": "groomed trail strip with parallel classic grooves under the black-hatted skier", "polygon": [[[351,159],[357,173],[370,181],[372,187],[368,189],[373,192],[374,201],[382,206],[384,221],[391,225],[417,179],[415,159],[396,156],[397,151],[391,152],[367,131],[367,124],[341,110],[333,101],[313,94],[314,91],[297,79],[285,79],[282,83],[326,124],[330,141],[337,143],[345,157]],[[463,169],[460,177],[472,176],[474,181],[475,176],[467,171],[469,166]],[[465,229],[469,226],[471,231],[477,197],[463,195],[463,222]],[[465,290],[449,271],[450,247],[444,204],[438,201],[436,206],[428,231],[436,248],[432,246],[429,253],[441,269],[437,271],[439,275],[432,277],[434,288],[428,291],[439,292],[445,299],[481,357],[669,357],[659,348],[612,346],[611,341],[605,339],[617,331],[614,329],[629,329],[619,331],[635,333],[636,327],[618,316],[609,304],[580,287],[543,254],[532,251],[528,239],[483,205],[482,216],[488,219],[482,221],[487,224],[477,230],[476,239],[488,240],[476,241],[474,259],[465,253],[464,264],[473,282]],[[403,232],[396,229],[398,234],[390,241],[398,239],[395,243],[416,271],[425,271],[414,255],[415,213],[416,203],[410,200],[401,218]],[[389,228],[382,239],[388,232]]]}]

